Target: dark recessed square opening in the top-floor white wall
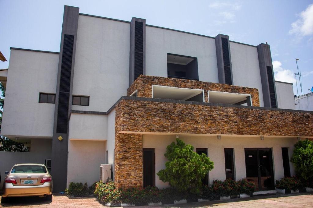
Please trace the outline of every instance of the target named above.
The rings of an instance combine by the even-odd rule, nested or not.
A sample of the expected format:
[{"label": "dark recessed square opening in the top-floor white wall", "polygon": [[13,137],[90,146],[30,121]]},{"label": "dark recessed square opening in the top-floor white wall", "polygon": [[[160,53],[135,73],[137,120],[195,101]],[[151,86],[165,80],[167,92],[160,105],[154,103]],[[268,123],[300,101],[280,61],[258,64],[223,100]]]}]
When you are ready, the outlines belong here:
[{"label": "dark recessed square opening in the top-floor white wall", "polygon": [[167,54],[167,77],[198,80],[198,59],[196,57]]}]

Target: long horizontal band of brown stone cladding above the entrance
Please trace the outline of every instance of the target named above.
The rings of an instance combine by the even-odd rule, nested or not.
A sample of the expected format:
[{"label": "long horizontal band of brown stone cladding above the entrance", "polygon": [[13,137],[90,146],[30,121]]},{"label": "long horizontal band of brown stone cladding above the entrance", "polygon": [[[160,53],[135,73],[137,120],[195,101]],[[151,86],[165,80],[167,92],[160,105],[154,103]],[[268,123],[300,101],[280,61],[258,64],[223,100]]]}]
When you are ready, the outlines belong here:
[{"label": "long horizontal band of brown stone cladding above the entrance", "polygon": [[122,99],[122,133],[313,136],[313,113]]}]

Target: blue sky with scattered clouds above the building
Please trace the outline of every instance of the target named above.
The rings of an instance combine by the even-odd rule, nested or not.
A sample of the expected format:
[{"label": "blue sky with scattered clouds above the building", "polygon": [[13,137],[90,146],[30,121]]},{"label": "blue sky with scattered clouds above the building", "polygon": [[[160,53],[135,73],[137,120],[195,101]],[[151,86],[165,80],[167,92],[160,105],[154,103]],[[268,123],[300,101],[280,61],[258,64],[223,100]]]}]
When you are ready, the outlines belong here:
[{"label": "blue sky with scattered clouds above the building", "polygon": [[[313,86],[313,0],[0,0],[0,51],[6,59],[10,47],[59,51],[64,5],[80,7],[80,13],[126,21],[140,17],[149,25],[207,36],[221,33],[254,46],[268,42],[275,80],[294,83],[298,94],[298,58],[303,94]],[[8,63],[0,61],[0,69]]]}]

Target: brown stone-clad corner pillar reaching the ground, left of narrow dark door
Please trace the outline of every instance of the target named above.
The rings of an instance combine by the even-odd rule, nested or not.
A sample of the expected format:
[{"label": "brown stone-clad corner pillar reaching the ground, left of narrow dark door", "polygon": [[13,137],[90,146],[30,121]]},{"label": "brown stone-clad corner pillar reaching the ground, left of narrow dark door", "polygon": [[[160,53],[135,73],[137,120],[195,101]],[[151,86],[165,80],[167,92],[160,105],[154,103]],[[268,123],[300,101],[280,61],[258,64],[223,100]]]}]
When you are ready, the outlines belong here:
[{"label": "brown stone-clad corner pillar reaching the ground, left of narrow dark door", "polygon": [[121,107],[115,112],[115,153],[114,172],[118,188],[143,186],[142,173],[142,134],[122,134]]}]

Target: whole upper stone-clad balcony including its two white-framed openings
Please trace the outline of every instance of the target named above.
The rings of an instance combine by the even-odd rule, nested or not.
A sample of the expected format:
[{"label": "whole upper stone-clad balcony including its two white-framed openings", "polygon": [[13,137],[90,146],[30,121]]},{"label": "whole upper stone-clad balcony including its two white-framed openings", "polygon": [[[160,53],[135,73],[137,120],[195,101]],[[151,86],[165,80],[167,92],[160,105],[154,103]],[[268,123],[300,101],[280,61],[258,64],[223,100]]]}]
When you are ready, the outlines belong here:
[{"label": "whole upper stone-clad balcony including its two white-framed openings", "polygon": [[140,75],[129,87],[127,95],[134,94],[146,98],[260,106],[259,90],[255,88],[146,75]]}]

